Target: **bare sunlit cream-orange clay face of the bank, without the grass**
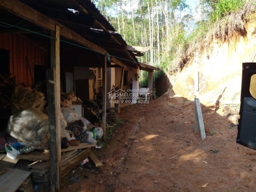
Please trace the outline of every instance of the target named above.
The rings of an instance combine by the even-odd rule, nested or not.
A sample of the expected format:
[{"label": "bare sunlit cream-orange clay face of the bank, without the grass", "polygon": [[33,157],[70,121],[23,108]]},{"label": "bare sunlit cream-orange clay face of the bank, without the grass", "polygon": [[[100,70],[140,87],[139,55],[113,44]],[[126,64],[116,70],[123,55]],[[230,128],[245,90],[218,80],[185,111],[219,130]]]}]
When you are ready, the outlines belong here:
[{"label": "bare sunlit cream-orange clay face of the bank, without the grass", "polygon": [[239,105],[242,63],[256,62],[256,23],[244,27],[245,36],[208,42],[181,71],[168,72],[175,94],[188,100],[197,96],[205,106]]}]

